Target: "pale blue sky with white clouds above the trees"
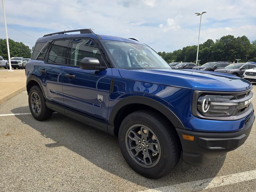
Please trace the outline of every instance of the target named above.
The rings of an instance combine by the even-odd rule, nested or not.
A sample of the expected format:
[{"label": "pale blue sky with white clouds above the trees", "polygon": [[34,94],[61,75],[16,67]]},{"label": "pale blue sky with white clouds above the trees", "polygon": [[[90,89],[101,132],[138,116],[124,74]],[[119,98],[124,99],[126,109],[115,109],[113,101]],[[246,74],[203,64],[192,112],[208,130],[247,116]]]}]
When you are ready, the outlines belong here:
[{"label": "pale blue sky with white clouds above the trees", "polygon": [[[44,34],[82,28],[172,52],[224,35],[256,40],[256,0],[5,0],[8,37],[30,48]],[[0,38],[6,38],[0,4]]]}]

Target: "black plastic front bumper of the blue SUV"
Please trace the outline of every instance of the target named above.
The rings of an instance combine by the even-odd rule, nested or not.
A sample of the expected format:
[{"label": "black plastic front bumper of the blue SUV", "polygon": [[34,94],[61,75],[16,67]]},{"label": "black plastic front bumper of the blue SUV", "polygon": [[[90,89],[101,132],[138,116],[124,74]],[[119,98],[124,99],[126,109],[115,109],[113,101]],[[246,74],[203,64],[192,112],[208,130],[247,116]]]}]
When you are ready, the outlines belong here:
[{"label": "black plastic front bumper of the blue SUV", "polygon": [[[243,128],[237,132],[211,133],[176,128],[183,150],[183,161],[194,166],[208,166],[215,158],[232,151],[248,138],[255,116],[252,113]],[[194,141],[184,140],[182,134],[194,136]]]}]

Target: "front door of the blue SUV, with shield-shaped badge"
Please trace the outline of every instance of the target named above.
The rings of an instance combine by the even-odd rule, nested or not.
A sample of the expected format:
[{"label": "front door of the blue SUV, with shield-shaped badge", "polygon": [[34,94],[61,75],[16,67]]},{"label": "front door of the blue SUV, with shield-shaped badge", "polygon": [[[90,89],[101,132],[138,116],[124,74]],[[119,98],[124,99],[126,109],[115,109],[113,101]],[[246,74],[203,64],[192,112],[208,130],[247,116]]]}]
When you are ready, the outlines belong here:
[{"label": "front door of the blue SUV, with shield-shaped badge", "polygon": [[64,104],[82,115],[106,122],[112,70],[80,69],[80,60],[84,57],[97,58],[106,66],[93,40],[73,39],[71,48],[70,60],[62,72]]}]

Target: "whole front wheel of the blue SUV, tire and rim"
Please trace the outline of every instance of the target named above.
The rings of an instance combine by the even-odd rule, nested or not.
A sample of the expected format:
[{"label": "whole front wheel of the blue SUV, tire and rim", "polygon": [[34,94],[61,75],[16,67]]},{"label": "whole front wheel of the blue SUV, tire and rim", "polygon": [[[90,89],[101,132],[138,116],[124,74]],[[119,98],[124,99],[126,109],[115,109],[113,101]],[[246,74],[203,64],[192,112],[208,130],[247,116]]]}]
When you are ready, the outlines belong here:
[{"label": "whole front wheel of the blue SUV, tire and rim", "polygon": [[[145,132],[150,136],[144,141]],[[161,178],[180,159],[178,134],[170,122],[154,111],[139,110],[126,116],[120,125],[118,142],[128,165],[147,178]]]}]

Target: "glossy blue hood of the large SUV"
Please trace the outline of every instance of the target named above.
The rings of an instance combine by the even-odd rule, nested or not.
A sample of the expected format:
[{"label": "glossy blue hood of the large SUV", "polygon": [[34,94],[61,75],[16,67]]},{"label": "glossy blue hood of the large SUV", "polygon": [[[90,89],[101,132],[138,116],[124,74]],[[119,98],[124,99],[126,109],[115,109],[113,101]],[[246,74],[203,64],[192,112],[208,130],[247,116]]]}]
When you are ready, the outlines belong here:
[{"label": "glossy blue hood of the large SUV", "polygon": [[175,86],[192,90],[240,92],[251,88],[251,83],[230,75],[200,70],[119,69],[124,79]]}]

